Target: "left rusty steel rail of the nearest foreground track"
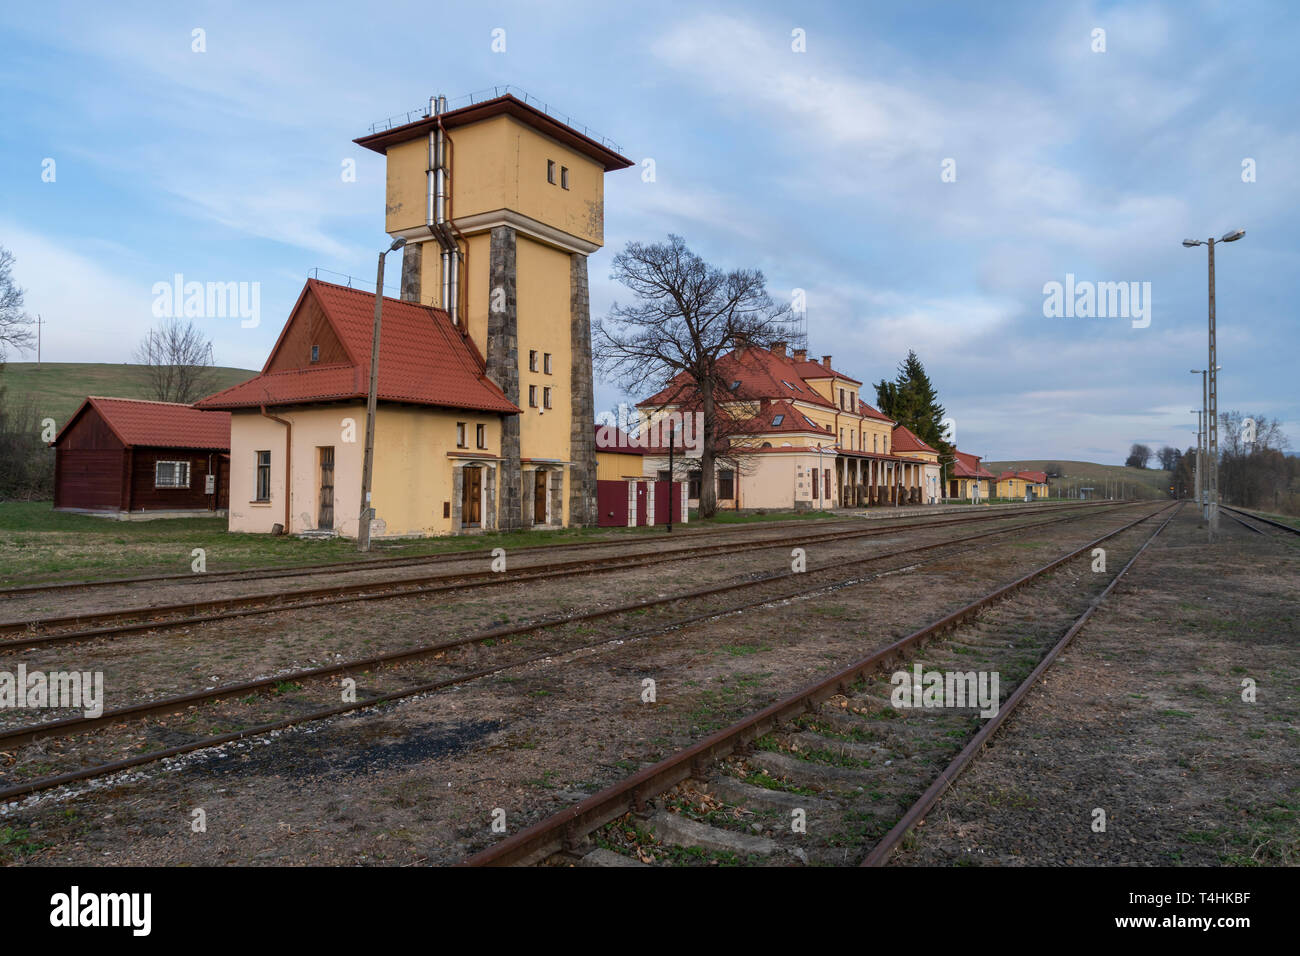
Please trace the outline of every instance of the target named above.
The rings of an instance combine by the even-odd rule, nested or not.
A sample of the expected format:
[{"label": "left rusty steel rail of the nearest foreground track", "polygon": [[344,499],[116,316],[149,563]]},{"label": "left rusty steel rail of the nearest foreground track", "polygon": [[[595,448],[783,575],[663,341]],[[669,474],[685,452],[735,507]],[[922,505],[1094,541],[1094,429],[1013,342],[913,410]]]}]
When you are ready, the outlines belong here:
[{"label": "left rusty steel rail of the nearest foreground track", "polygon": [[849,687],[857,680],[880,669],[889,667],[896,661],[902,659],[914,646],[933,637],[936,633],[963,623],[993,602],[1019,591],[1069,561],[1091,551],[1104,541],[1109,541],[1117,535],[1122,535],[1138,524],[1164,514],[1169,507],[1175,506],[1170,505],[1164,510],[1128,522],[1115,531],[1108,532],[1082,548],[1076,548],[1014,581],[996,588],[984,597],[976,598],[956,611],[945,614],[942,618],[850,663],[828,678],[810,684],[775,704],[770,704],[750,717],[733,723],[731,727],[708,735],[672,757],[632,774],[578,804],[566,808],[517,834],[507,836],[495,845],[463,860],[459,865],[504,866],[529,864],[560,849],[576,848],[580,839],[593,830],[608,823],[611,819],[621,817],[624,813],[642,809],[647,799],[663,793],[690,777],[703,775],[714,761],[728,756],[737,748],[745,747],[750,741],[779,727],[783,722],[805,711],[811,711],[827,697],[848,692]]}]

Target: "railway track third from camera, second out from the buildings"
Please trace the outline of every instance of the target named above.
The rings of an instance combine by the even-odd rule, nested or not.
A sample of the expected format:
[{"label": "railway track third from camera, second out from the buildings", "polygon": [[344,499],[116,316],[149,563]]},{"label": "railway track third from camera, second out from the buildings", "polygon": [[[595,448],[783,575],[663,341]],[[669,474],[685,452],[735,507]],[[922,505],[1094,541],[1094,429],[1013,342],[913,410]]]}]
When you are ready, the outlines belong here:
[{"label": "railway track third from camera, second out from the buildings", "polygon": [[[1117,507],[1130,507],[1119,505]],[[1061,506],[1043,509],[1035,514],[1100,514],[1104,506]],[[580,558],[552,562],[545,566],[526,566],[515,571],[452,571],[448,574],[408,578],[398,581],[363,581],[359,584],[332,584],[322,588],[298,588],[273,593],[234,596],[207,601],[186,601],[170,605],[148,605],[125,607],[109,611],[82,614],[34,617],[0,622],[0,650],[5,648],[35,648],[70,644],[101,637],[117,637],[144,631],[190,627],[218,620],[276,614],[290,610],[324,607],[341,604],[385,601],[402,597],[430,596],[448,592],[463,592],[474,588],[500,587],[538,580],[569,578],[575,575],[607,574],[638,567],[663,564],[673,561],[689,561],[718,554],[742,554],[750,551],[806,546],[833,541],[881,537],[900,531],[944,528],[949,525],[971,524],[989,520],[1014,520],[1017,515],[980,514],[944,520],[914,522],[888,527],[858,527],[846,531],[788,535],[779,538],[763,537],[750,541],[706,542],[672,550],[651,550],[604,555],[599,558]],[[491,555],[482,555],[485,563]],[[372,568],[367,568],[372,570]]]}]

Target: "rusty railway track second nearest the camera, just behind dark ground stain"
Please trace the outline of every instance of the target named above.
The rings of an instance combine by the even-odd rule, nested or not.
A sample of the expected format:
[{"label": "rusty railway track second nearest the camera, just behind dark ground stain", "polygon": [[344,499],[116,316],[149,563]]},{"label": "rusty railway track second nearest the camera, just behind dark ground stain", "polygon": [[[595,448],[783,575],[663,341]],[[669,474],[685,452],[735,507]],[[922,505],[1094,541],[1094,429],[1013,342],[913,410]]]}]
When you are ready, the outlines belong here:
[{"label": "rusty railway track second nearest the camera, just behind dark ground stain", "polygon": [[[94,763],[91,766],[83,766],[68,773],[55,774],[48,777],[42,777],[38,779],[27,779],[20,783],[14,783],[9,787],[0,788],[0,803],[16,800],[39,791],[51,790],[60,786],[66,786],[82,780],[90,780],[99,777],[107,777],[122,770],[142,766],[144,763],[156,762],[159,760],[165,760],[169,757],[181,756],[183,753],[190,753],[200,749],[220,747],[226,743],[235,740],[243,740],[248,737],[261,736],[278,730],[283,730],[295,724],[303,724],[308,722],[328,719],[330,717],[337,717],[350,711],[356,711],[367,708],[373,708],[380,704],[386,704],[407,697],[413,697],[417,695],[430,693],[458,684],[464,684],[473,680],[480,680],[485,676],[498,674],[500,671],[520,667],[528,663],[533,663],[541,659],[556,654],[575,653],[578,650],[586,650],[592,648],[603,648],[611,645],[619,645],[629,640],[640,640],[644,637],[650,637],[660,633],[667,633],[675,631],[680,627],[692,623],[699,623],[702,620],[708,620],[712,618],[722,617],[724,614],[732,614],[744,610],[751,610],[755,607],[762,607],[770,605],[775,601],[792,600],[802,596],[807,596],[816,592],[846,588],[864,584],[868,580],[875,580],[887,574],[897,574],[900,571],[907,572],[923,567],[926,562],[918,562],[918,551],[940,551],[944,553],[935,561],[946,561],[956,554],[974,550],[979,545],[974,545],[974,541],[984,541],[989,537],[997,535],[1008,533],[1020,533],[1030,532],[1036,528],[1054,527],[1072,520],[1080,520],[1083,518],[1093,516],[1097,512],[1088,511],[1083,514],[1067,514],[1063,516],[1056,516],[1045,522],[1037,522],[1030,525],[1018,525],[1013,528],[994,528],[991,531],[984,531],[980,533],[965,536],[956,540],[946,540],[940,542],[932,542],[928,545],[911,545],[894,551],[874,554],[870,557],[858,558],[854,561],[845,562],[842,559],[836,559],[832,566],[815,568],[810,567],[806,572],[794,574],[790,571],[783,571],[776,574],[763,575],[760,578],[751,578],[740,581],[733,581],[720,587],[701,588],[693,592],[675,593],[660,596],[647,601],[637,601],[628,605],[603,607],[598,610],[589,610],[577,614],[562,615],[559,618],[529,622],[525,624],[517,624],[511,627],[495,627],[486,631],[480,631],[471,635],[464,635],[460,637],[454,637],[450,640],[437,641],[432,644],[420,645],[416,648],[410,648],[404,650],[389,652],[385,654],[377,654],[372,657],[352,659],[347,662],[341,662],[337,665],[329,665],[324,667],[315,667],[307,670],[299,670],[290,674],[280,674],[272,678],[264,678],[259,680],[242,682],[238,684],[226,684],[217,688],[208,688],[200,692],[172,696],[160,700],[143,701],[131,706],[118,708],[114,710],[108,710],[98,718],[65,718],[60,721],[47,721],[39,724],[31,724],[26,727],[10,728],[0,732],[0,750],[14,753],[16,748],[34,744],[34,743],[48,743],[51,740],[70,737],[75,735],[84,735],[94,731],[101,731],[112,728],[117,724],[138,724],[142,721],[155,717],[179,715],[182,727],[174,730],[181,736],[185,736],[183,743],[174,744],[172,747],[148,750],[146,753],[135,753],[133,756],[109,760],[103,763]],[[1108,535],[1097,538],[1098,541],[1108,540],[1124,529],[1134,527],[1135,524],[1147,520],[1149,515],[1143,515],[1134,522],[1128,522],[1121,529],[1109,532]],[[957,548],[958,545],[963,545]],[[901,562],[894,566],[881,568],[874,574],[863,575],[857,574],[850,578],[844,578],[844,572],[853,567],[861,567],[864,564],[884,562],[890,558],[902,558]],[[930,562],[933,563],[933,562]],[[800,583],[792,587],[793,581]],[[742,601],[732,602],[724,606],[716,604],[716,598],[732,594],[737,592],[750,593],[745,596]],[[680,610],[689,605],[689,602],[702,602],[702,607],[689,607],[689,613],[681,614]],[[670,611],[666,614],[664,619],[650,623],[647,627],[646,619],[642,617],[647,611]],[[616,620],[624,618],[621,628],[607,627],[607,632],[595,640],[588,640],[585,637],[585,631],[578,627],[576,631],[573,626],[585,626],[595,620]],[[448,652],[456,648],[465,648],[469,645],[484,645],[485,643],[493,643],[493,645],[506,641],[515,643],[520,639],[528,636],[538,636],[543,632],[560,633],[563,636],[563,628],[571,628],[569,637],[578,637],[580,641],[575,645],[572,643],[566,643],[560,648],[543,648],[536,653],[530,653],[523,658],[516,657],[503,662],[493,663],[488,667],[476,667],[472,670],[454,670],[446,676],[439,676],[434,680],[422,680],[416,684],[407,683],[404,685],[398,685],[391,691],[382,692],[369,692],[359,693],[358,700],[346,702],[342,705],[321,706],[320,701],[306,701],[296,698],[294,696],[280,696],[277,692],[285,687],[291,687],[299,689],[302,684],[316,682],[322,684],[322,691],[333,692],[337,695],[337,684],[325,685],[322,682],[330,679],[342,679],[350,674],[370,674],[376,669],[389,667],[394,665],[404,665],[413,661],[429,661],[430,658],[437,659],[446,656]],[[610,633],[608,631],[614,631]],[[454,662],[438,663],[437,666],[446,669]],[[247,705],[250,698],[261,695],[259,700],[269,696],[269,701],[260,704],[263,708],[259,719],[251,719],[247,710],[242,709]],[[337,698],[337,697],[335,697]],[[234,730],[226,732],[216,734],[195,734],[188,730],[188,724],[198,715],[195,711],[200,706],[208,706],[218,702],[235,702],[233,711],[224,714],[209,714],[203,719],[207,719],[209,724],[214,724],[212,730],[216,730],[222,723],[235,724]],[[265,719],[266,708],[282,708],[292,710],[286,715],[276,715],[274,719]],[[156,730],[156,728],[155,728]]]}]

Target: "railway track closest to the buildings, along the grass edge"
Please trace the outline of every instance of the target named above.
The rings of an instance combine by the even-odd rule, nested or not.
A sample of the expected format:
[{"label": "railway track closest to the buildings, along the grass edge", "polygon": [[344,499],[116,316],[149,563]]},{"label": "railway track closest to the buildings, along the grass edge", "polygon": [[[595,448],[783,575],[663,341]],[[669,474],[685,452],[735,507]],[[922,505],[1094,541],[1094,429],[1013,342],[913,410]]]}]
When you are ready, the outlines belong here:
[{"label": "railway track closest to the buildings, along the grass edge", "polygon": [[[1035,506],[1030,506],[1031,509]],[[1050,510],[1066,509],[1066,507],[1087,507],[1087,505],[1060,505],[1053,506]],[[1017,514],[1023,514],[1028,509],[1002,506],[997,514],[1004,516],[1014,516]],[[1049,510],[1049,509],[1043,509]],[[904,520],[902,516],[888,518],[881,516],[879,519],[883,522]],[[844,519],[826,519],[818,522],[818,527],[842,527],[842,525],[861,525],[862,518],[844,518]],[[909,525],[893,525],[893,527],[911,527]],[[664,533],[663,541],[693,538],[693,537],[722,537],[724,535],[758,535],[763,531],[783,531],[788,528],[807,528],[807,520],[788,520],[788,522],[770,522],[762,525],[737,525],[731,528],[679,528],[672,532],[672,536]],[[560,551],[593,551],[603,549],[627,549],[629,544],[640,544],[645,538],[625,538],[616,541],[578,541],[573,544],[545,544],[545,545],[524,545],[519,548],[510,548],[512,555],[519,554],[534,554],[546,553],[556,554]],[[337,572],[337,574],[350,574],[354,571],[384,571],[403,567],[420,567],[420,566],[434,566],[434,564],[450,564],[456,562],[472,561],[476,558],[482,558],[490,551],[467,549],[459,551],[445,551],[442,554],[424,554],[424,555],[380,555],[372,558],[364,558],[358,561],[337,561],[337,562],[322,562],[316,564],[294,564],[294,566],[270,566],[270,567],[255,567],[255,568],[239,568],[230,571],[207,571],[204,574],[159,574],[159,575],[138,575],[130,578],[101,578],[94,580],[77,580],[77,581],[48,581],[40,584],[21,584],[16,587],[0,588],[0,601],[14,600],[21,597],[30,597],[32,594],[58,594],[58,593],[72,593],[72,592],[84,592],[84,591],[98,591],[104,588],[127,588],[133,585],[146,585],[146,584],[166,584],[166,585],[191,585],[191,584],[212,584],[220,581],[263,581],[273,580],[280,578],[307,578],[317,574]]]}]

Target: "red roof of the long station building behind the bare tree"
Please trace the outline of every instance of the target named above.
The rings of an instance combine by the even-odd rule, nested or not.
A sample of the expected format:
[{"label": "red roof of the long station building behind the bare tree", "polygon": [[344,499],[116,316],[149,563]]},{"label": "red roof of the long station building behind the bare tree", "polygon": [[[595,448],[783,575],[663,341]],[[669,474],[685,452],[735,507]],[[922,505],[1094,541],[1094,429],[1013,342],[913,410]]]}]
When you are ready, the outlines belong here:
[{"label": "red roof of the long station building behind the bare tree", "polygon": [[[798,360],[753,345],[720,355],[716,369],[719,381],[723,382],[723,388],[729,393],[731,398],[727,401],[758,402],[763,398],[774,402],[783,399],[798,401],[836,411],[845,410],[841,410],[835,402],[812,388],[805,373],[820,378],[829,378],[832,375],[837,375],[846,381],[857,381],[837,372],[831,372],[818,362]],[[734,388],[732,388],[733,385]],[[696,394],[694,382],[690,376],[685,372],[679,372],[668,382],[667,388],[660,389],[644,402],[638,402],[637,407],[659,407],[666,405],[692,407],[698,401],[699,398]],[[852,415],[853,412],[846,414]],[[858,402],[857,414],[868,419],[893,423],[893,419],[888,415],[881,415],[862,401]]]}]

